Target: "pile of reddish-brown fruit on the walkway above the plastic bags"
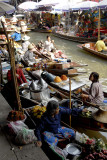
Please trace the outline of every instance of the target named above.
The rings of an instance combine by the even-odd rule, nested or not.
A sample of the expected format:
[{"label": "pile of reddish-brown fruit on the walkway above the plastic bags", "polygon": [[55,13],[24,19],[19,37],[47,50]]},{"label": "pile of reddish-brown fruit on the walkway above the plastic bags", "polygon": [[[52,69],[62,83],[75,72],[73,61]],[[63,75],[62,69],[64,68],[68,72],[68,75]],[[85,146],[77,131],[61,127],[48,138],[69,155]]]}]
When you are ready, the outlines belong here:
[{"label": "pile of reddish-brown fruit on the walkway above the plastic bags", "polygon": [[21,111],[14,111],[12,110],[11,112],[9,112],[9,115],[7,117],[8,121],[18,121],[18,120],[24,120],[25,119],[25,115],[23,112]]}]

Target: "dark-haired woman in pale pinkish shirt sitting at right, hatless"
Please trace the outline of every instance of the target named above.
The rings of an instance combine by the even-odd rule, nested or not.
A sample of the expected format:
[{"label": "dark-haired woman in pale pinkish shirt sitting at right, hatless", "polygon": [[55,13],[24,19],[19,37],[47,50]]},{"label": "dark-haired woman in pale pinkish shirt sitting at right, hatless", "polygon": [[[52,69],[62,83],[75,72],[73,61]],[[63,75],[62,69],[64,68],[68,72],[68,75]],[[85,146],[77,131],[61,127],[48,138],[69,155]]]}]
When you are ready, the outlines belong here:
[{"label": "dark-haired woman in pale pinkish shirt sitting at right, hatless", "polygon": [[90,101],[94,104],[103,103],[104,96],[102,91],[102,85],[99,83],[99,74],[97,72],[92,72],[89,76],[89,80],[92,81],[90,89],[82,93],[81,97],[84,101]]}]

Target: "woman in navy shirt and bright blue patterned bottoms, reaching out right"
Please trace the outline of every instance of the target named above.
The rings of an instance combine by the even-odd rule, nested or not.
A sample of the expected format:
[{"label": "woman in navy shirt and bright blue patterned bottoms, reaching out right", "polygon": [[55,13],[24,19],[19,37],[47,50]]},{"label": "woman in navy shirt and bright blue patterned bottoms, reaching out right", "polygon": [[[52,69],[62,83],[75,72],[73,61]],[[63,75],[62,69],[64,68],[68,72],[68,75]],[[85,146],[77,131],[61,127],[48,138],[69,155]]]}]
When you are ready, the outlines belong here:
[{"label": "woman in navy shirt and bright blue patterned bottoms, reaching out right", "polygon": [[69,109],[59,109],[58,102],[51,100],[47,104],[46,112],[41,118],[40,124],[36,128],[37,146],[42,146],[41,133],[44,141],[49,145],[55,146],[58,144],[59,139],[75,137],[75,131],[62,127],[60,125],[61,114],[71,114]]}]

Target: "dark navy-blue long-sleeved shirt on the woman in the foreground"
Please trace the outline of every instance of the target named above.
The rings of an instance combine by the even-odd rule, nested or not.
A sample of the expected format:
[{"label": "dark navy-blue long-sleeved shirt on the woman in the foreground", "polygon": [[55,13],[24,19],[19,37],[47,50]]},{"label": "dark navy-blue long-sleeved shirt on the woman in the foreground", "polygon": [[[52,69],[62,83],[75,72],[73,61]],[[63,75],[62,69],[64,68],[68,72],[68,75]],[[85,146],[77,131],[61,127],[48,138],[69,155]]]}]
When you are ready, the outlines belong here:
[{"label": "dark navy-blue long-sleeved shirt on the woman in the foreground", "polygon": [[41,133],[43,131],[48,131],[54,134],[58,133],[58,128],[61,127],[61,114],[71,114],[71,109],[63,109],[60,108],[59,114],[55,115],[55,117],[48,116],[46,113],[41,118],[41,122],[36,128],[36,136],[39,141],[41,141]]}]

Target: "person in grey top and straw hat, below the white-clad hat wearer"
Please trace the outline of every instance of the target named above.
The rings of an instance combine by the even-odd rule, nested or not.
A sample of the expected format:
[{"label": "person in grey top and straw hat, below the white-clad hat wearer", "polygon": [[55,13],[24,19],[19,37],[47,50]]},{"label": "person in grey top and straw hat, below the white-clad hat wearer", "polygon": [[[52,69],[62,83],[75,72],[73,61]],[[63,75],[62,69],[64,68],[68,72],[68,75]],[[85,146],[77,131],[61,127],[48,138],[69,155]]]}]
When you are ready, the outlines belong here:
[{"label": "person in grey top and straw hat, below the white-clad hat wearer", "polygon": [[23,59],[25,62],[27,62],[28,64],[31,62],[35,62],[35,58],[33,56],[33,49],[34,49],[34,45],[33,44],[29,44],[28,46],[28,50],[25,52]]}]

